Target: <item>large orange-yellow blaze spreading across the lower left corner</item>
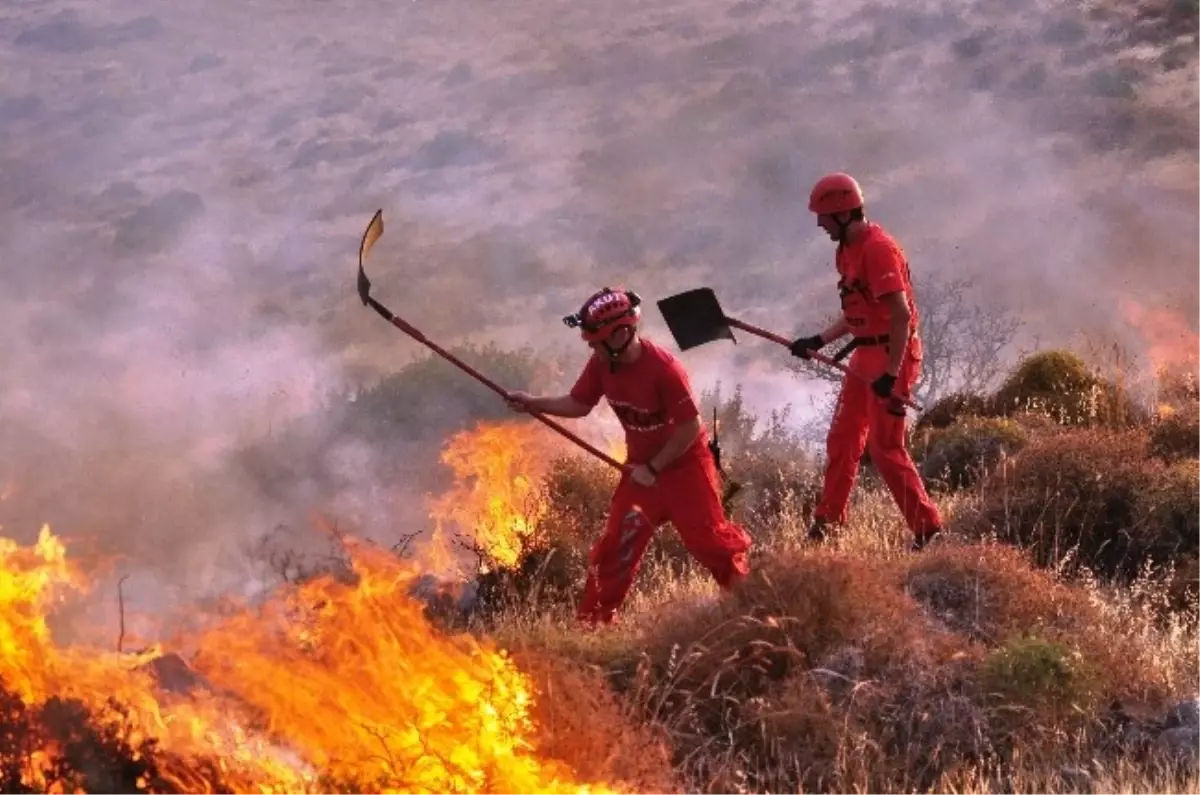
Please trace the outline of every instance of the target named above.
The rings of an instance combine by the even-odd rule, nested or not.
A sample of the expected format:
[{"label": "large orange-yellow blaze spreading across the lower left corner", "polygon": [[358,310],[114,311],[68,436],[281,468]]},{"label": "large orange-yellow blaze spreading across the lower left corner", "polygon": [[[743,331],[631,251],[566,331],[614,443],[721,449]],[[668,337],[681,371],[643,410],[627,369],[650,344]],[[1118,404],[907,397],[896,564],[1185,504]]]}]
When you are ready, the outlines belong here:
[{"label": "large orange-yellow blaze spreading across the lower left corner", "polygon": [[[49,528],[29,548],[0,539],[0,789],[16,776],[62,795],[617,791],[539,757],[529,681],[491,644],[438,634],[408,596],[414,567],[346,545],[355,582],[288,586],[180,639],[200,686],[179,693],[148,665],[168,659],[161,650],[58,645],[47,618],[86,578]],[[82,778],[98,775],[101,746],[122,782]],[[90,772],[65,781],[65,765]]]}]

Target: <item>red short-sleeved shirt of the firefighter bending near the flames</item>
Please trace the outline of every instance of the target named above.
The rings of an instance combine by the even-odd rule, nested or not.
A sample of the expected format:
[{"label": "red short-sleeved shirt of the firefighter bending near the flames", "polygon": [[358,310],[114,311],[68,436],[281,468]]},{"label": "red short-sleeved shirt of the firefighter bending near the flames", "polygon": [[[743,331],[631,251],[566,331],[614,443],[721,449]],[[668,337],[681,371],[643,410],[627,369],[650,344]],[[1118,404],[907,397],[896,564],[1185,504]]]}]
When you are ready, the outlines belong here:
[{"label": "red short-sleeved shirt of the firefighter bending near the flames", "polygon": [[[642,354],[632,364],[613,370],[607,359],[592,354],[571,388],[571,398],[595,407],[601,398],[625,429],[629,464],[646,464],[666,444],[680,423],[700,416],[691,382],[679,360],[649,340],[642,340]],[[692,455],[704,449],[706,432],[688,449]]]}]

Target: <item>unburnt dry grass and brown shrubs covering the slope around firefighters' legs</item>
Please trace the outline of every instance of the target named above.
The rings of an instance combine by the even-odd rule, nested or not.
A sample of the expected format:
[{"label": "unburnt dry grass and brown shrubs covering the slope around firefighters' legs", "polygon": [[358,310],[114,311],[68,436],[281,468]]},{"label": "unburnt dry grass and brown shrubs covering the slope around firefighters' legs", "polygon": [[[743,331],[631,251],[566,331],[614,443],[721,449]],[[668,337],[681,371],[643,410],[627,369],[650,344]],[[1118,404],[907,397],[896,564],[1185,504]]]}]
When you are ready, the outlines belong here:
[{"label": "unburnt dry grass and brown shrubs covering the slope around firefighters' legs", "polygon": [[[749,581],[718,598],[665,527],[620,622],[580,633],[574,599],[616,476],[566,456],[545,480],[541,542],[490,575],[503,598],[464,626],[534,670],[602,676],[610,731],[664,737],[678,791],[984,793],[1004,778],[1181,791],[1186,733],[1166,716],[1200,688],[1200,467],[1159,455],[1178,449],[1165,420],[1056,351],[992,393],[944,398],[912,443],[931,485],[950,486],[954,533],[911,555],[869,479],[847,532],[805,548],[820,461],[740,390],[704,400],[748,486],[734,515],[756,540]],[[670,790],[662,770],[643,791]]]}]

